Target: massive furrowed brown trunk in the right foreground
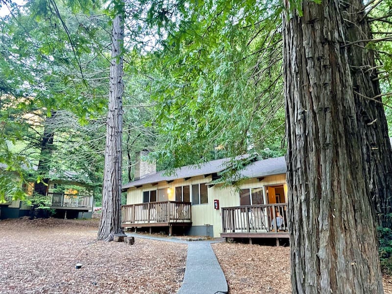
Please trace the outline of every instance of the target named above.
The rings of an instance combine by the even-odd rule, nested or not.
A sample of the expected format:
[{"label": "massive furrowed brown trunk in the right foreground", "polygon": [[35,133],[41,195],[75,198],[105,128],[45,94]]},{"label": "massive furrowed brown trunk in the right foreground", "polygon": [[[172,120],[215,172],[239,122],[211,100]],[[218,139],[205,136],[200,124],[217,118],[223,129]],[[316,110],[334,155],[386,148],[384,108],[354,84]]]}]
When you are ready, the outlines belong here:
[{"label": "massive furrowed brown trunk in the right foreground", "polygon": [[383,293],[339,1],[302,10],[283,31],[293,293]]}]

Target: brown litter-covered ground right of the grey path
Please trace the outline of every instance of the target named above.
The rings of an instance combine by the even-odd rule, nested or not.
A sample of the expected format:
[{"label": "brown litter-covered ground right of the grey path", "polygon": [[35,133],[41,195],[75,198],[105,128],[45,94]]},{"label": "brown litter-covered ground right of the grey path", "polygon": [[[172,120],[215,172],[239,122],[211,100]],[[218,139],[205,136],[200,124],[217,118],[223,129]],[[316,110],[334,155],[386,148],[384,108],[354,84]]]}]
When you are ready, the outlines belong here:
[{"label": "brown litter-covered ground right of the grey path", "polygon": [[[230,294],[290,294],[290,248],[217,243],[212,245],[226,276]],[[384,276],[384,292],[392,294],[392,277]]]}]

